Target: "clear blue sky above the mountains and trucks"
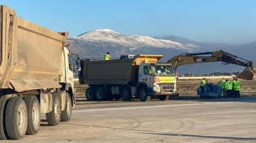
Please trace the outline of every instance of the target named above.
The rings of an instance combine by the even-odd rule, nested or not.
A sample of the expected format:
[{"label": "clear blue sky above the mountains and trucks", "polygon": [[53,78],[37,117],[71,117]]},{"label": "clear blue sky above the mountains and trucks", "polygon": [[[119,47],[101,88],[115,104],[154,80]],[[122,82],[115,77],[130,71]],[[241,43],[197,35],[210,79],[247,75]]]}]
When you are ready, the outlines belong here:
[{"label": "clear blue sky above the mountains and trucks", "polygon": [[255,0],[1,0],[18,16],[70,36],[109,28],[199,42],[256,40]]}]

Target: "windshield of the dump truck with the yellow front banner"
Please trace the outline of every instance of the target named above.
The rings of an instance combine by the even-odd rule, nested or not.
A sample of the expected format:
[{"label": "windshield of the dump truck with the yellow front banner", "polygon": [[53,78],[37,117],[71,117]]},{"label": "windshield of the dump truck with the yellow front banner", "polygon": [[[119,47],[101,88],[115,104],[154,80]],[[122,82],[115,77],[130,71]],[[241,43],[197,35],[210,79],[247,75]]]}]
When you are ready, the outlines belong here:
[{"label": "windshield of the dump truck with the yellow front banner", "polygon": [[172,66],[153,66],[152,68],[154,71],[154,75],[175,75]]}]

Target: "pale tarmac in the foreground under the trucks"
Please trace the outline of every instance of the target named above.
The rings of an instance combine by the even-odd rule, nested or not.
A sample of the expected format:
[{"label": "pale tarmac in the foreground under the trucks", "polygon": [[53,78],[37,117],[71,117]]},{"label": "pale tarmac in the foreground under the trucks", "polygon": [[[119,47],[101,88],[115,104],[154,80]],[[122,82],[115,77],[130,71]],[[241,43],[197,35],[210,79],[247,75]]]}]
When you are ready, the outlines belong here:
[{"label": "pale tarmac in the foreground under the trucks", "polygon": [[23,143],[252,143],[256,96],[79,104],[69,122],[48,126]]}]

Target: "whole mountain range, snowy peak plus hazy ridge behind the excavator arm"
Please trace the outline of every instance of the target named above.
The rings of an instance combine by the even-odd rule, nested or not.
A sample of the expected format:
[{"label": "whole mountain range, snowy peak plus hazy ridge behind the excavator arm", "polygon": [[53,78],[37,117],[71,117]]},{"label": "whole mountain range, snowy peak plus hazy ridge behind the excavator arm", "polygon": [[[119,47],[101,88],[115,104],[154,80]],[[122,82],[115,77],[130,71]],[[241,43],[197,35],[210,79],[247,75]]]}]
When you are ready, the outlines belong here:
[{"label": "whole mountain range, snowy peak plus hazy ridge behind the excavator arm", "polygon": [[[103,59],[109,52],[111,59],[118,59],[122,54],[161,54],[164,57],[161,62],[166,62],[171,57],[182,53],[211,52],[213,50],[225,50],[239,56],[248,55],[246,59],[254,60],[254,52],[245,54],[246,51],[254,51],[255,43],[244,46],[234,46],[225,43],[201,43],[177,36],[126,36],[110,29],[99,29],[85,32],[75,37],[68,38],[68,47],[73,54],[79,54],[83,59]],[[245,50],[250,49],[250,50]],[[241,54],[243,53],[243,54]],[[75,64],[75,63],[74,63]],[[242,67],[243,68],[243,67]],[[179,73],[213,73],[241,70],[241,66],[224,66],[221,63],[190,64],[178,68]]]}]

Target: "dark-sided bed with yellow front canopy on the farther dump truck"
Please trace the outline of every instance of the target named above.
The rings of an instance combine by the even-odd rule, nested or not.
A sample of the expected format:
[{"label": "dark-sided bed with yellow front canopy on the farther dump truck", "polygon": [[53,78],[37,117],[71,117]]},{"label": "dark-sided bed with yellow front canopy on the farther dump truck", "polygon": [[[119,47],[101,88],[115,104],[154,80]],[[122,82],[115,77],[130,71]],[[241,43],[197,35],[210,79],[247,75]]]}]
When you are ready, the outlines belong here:
[{"label": "dark-sided bed with yellow front canopy on the farther dump truck", "polygon": [[138,83],[140,63],[157,62],[163,55],[136,55],[133,59],[81,60],[80,84]]}]

